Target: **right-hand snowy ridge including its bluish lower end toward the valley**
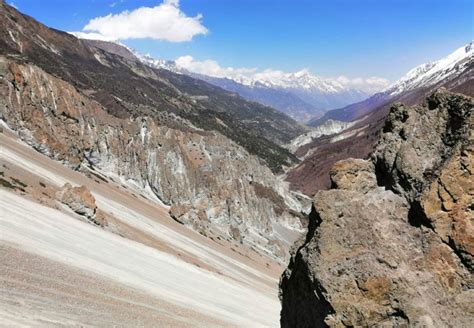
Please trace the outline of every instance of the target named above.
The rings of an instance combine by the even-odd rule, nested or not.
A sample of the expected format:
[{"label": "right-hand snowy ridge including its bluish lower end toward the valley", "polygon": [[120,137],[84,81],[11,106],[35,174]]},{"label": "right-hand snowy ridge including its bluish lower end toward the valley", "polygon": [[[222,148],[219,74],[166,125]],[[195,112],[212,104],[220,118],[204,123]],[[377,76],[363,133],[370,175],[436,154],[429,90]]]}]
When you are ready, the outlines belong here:
[{"label": "right-hand snowy ridge including its bluish lower end toward the valley", "polygon": [[472,67],[473,56],[474,45],[470,42],[440,60],[413,68],[382,92],[361,102],[328,111],[323,117],[315,117],[310,120],[308,125],[318,126],[330,119],[353,121],[371,113],[387,102],[392,102],[400,97],[410,98],[409,94],[419,89],[435,89],[440,84],[448,83],[461,76],[468,68]]}]

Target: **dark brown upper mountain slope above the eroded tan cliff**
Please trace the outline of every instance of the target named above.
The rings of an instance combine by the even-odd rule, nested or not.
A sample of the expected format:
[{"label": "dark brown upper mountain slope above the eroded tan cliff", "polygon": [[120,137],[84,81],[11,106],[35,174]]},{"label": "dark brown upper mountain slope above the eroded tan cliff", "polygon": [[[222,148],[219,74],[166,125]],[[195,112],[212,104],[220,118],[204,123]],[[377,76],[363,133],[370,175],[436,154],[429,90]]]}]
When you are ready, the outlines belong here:
[{"label": "dark brown upper mountain slope above the eroded tan cliff", "polygon": [[[199,128],[230,137],[275,171],[295,163],[296,159],[278,144],[287,143],[305,129],[286,115],[201,80],[182,79],[90,47],[72,35],[48,29],[5,3],[0,6],[2,54],[33,62],[89,92],[109,113],[125,118],[172,112]],[[173,85],[170,78],[178,85]],[[201,93],[188,95],[190,89]]]}]

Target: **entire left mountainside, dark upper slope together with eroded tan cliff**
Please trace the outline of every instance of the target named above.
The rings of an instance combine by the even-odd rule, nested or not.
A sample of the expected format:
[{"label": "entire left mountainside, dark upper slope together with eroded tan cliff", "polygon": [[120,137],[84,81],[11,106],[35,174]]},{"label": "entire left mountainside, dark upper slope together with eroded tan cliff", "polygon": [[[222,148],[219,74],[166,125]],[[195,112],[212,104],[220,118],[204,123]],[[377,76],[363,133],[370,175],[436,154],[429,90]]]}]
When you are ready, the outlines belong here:
[{"label": "entire left mountainside, dark upper slope together with eroded tan cliff", "polygon": [[[159,199],[176,221],[203,235],[287,256],[304,226],[303,208],[264,165],[272,158],[291,163],[289,152],[265,136],[288,140],[300,129],[294,121],[1,6],[0,118],[22,140],[69,168]],[[270,156],[257,157],[239,141]]]}]

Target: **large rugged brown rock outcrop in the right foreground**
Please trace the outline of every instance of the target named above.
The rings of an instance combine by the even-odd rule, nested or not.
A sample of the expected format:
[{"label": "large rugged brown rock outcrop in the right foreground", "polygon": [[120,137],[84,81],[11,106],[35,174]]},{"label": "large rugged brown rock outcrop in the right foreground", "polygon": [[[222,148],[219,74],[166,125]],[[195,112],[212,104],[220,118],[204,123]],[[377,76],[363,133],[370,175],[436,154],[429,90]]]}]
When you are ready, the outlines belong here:
[{"label": "large rugged brown rock outcrop in the right foreground", "polygon": [[474,316],[474,100],[392,107],[370,160],[319,192],[281,279],[283,327],[467,327]]}]

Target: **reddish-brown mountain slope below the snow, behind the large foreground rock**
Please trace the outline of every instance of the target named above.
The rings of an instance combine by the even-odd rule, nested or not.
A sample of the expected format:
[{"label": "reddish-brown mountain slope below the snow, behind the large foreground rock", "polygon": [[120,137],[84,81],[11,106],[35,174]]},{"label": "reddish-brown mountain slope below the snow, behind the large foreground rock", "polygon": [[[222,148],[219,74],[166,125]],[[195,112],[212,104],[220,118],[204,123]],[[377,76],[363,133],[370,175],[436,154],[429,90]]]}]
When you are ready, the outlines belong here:
[{"label": "reddish-brown mountain slope below the snow, behind the large foreground rock", "polygon": [[[343,111],[330,112],[337,112],[337,117],[343,121],[357,120],[352,121],[355,124],[351,124],[346,130],[312,139],[311,142],[305,143],[294,152],[296,156],[304,158],[304,160],[287,174],[287,181],[291,183],[291,188],[302,191],[307,195],[314,195],[318,190],[330,187],[329,171],[335,162],[350,157],[367,158],[378,141],[380,130],[393,103],[419,104],[440,87],[474,96],[472,48],[467,45],[460,49],[464,49],[465,59],[458,62],[458,65],[453,66],[454,71],[448,70],[452,73],[447,76],[444,73],[444,79],[436,81],[434,85],[415,89],[408,88],[406,92],[397,94],[389,100],[378,94],[365,102],[346,108],[347,112],[345,113]],[[455,53],[457,52],[459,52],[459,49]],[[440,60],[439,62],[445,61]],[[428,80],[434,81],[432,79]],[[397,88],[393,90],[397,90]],[[354,110],[355,112],[353,112]],[[327,115],[326,118],[329,116]],[[307,134],[311,134],[311,132]]]}]

